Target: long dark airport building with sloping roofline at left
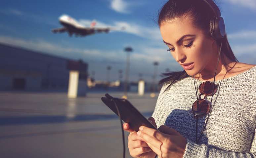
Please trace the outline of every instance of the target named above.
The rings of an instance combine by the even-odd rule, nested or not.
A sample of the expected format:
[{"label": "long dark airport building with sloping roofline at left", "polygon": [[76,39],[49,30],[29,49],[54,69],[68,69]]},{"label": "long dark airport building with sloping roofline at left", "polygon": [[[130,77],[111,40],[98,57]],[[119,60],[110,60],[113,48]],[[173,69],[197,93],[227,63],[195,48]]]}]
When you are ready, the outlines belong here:
[{"label": "long dark airport building with sloping roofline at left", "polygon": [[70,70],[87,79],[88,64],[0,44],[0,91],[67,91]]}]

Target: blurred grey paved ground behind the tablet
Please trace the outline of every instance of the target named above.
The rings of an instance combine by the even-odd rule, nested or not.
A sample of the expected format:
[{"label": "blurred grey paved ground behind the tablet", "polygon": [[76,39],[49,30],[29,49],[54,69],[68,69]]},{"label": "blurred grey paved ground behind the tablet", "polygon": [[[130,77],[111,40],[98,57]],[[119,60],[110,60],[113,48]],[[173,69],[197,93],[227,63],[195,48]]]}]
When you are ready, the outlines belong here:
[{"label": "blurred grey paved ground behind the tablet", "polygon": [[[104,95],[93,92],[68,99],[66,93],[0,92],[0,157],[122,158],[120,120],[101,101]],[[148,118],[157,95],[128,93],[128,100]],[[125,132],[125,153],[131,158],[128,135]]]}]

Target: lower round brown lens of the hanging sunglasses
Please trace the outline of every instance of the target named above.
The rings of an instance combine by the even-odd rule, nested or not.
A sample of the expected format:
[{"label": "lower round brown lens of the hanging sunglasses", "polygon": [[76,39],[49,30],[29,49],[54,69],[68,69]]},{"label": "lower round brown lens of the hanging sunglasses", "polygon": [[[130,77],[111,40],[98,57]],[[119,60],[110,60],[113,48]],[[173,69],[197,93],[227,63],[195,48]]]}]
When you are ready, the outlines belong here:
[{"label": "lower round brown lens of the hanging sunglasses", "polygon": [[192,112],[196,116],[203,116],[209,112],[209,105],[203,99],[198,99],[193,103]]}]

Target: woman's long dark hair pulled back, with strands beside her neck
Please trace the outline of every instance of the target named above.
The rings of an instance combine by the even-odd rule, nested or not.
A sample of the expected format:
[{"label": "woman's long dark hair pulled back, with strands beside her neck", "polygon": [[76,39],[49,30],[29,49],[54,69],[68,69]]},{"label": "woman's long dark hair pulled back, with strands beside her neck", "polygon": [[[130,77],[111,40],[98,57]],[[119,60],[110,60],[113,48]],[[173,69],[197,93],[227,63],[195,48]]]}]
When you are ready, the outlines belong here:
[{"label": "woman's long dark hair pulled back, with strands beside her neck", "polygon": [[[160,27],[160,25],[164,22],[168,22],[174,18],[182,18],[183,16],[187,15],[192,18],[193,24],[195,26],[201,28],[208,37],[211,36],[209,23],[210,20],[214,17],[214,13],[202,0],[169,0],[159,12],[158,25]],[[220,46],[221,41],[216,41],[216,43]],[[220,54],[220,58],[223,64],[227,65],[227,62],[224,59],[224,55],[231,61],[238,62],[229,45],[227,35],[222,40],[222,51]],[[161,76],[165,78],[161,79],[159,84],[169,84],[165,91],[175,82],[189,77],[185,70],[177,72],[166,72],[162,73]]]}]

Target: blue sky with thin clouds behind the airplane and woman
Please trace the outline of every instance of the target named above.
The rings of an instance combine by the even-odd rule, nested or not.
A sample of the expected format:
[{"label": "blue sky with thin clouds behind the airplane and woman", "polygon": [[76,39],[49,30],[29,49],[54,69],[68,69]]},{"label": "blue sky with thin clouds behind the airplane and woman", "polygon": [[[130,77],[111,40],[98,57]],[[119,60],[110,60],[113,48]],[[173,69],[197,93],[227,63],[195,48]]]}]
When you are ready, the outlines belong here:
[{"label": "blue sky with thin clouds behind the airplane and woman", "polygon": [[[166,0],[86,0],[86,1],[12,1],[0,6],[0,42],[48,54],[83,59],[96,80],[106,80],[106,67],[112,67],[110,80],[118,79],[118,70],[125,71],[125,47],[131,46],[130,79],[139,73],[152,81],[153,62],[158,61],[158,75],[169,68],[182,70],[162,42],[157,13]],[[256,64],[256,0],[219,0],[231,47],[239,62]],[[125,26],[124,31],[69,37],[53,34],[62,27],[58,18],[67,14],[88,26],[92,20],[100,26]],[[160,77],[158,77],[160,79]]]}]

